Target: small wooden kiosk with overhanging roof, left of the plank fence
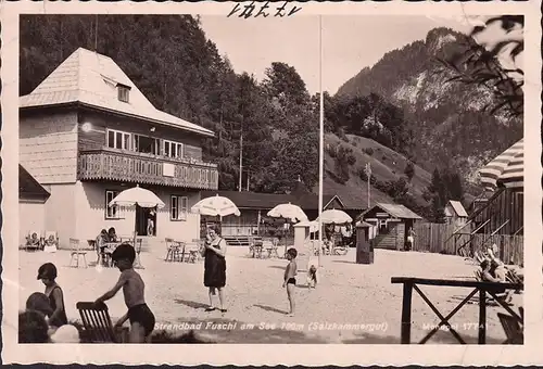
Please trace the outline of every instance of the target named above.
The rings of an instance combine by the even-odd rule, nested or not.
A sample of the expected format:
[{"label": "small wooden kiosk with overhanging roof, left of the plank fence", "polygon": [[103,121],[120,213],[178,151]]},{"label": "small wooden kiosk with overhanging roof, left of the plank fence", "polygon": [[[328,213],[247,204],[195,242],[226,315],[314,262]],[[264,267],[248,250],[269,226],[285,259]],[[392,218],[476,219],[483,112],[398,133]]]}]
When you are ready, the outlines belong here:
[{"label": "small wooden kiosk with overhanging roof, left of the plank fence", "polygon": [[377,203],[362,213],[365,222],[371,225],[369,239],[375,249],[404,250],[407,231],[422,218],[404,205]]}]

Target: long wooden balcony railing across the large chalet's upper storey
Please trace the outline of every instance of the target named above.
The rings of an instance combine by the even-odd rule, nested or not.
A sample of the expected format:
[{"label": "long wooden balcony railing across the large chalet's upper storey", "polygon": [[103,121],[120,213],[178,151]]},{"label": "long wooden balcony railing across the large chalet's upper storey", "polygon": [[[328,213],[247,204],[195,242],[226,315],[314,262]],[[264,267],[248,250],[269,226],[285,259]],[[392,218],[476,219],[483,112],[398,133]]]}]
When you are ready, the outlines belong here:
[{"label": "long wooden balcony railing across the large chalet's upper storey", "polygon": [[77,158],[77,178],[81,181],[112,180],[199,190],[218,188],[216,164],[110,148],[80,151]]}]

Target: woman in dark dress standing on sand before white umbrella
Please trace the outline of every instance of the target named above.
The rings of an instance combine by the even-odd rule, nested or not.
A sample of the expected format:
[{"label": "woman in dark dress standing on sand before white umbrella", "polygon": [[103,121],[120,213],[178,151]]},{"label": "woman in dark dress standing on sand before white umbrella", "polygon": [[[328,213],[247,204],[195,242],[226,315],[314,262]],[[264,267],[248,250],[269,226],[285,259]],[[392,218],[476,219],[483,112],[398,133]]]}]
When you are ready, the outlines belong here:
[{"label": "woman in dark dress standing on sand before white umbrella", "polygon": [[220,311],[226,313],[224,288],[226,285],[226,241],[219,234],[217,226],[207,229],[207,240],[202,255],[204,256],[204,285],[209,289],[210,306],[206,311],[213,311],[217,308],[213,304],[213,296],[218,291]]}]

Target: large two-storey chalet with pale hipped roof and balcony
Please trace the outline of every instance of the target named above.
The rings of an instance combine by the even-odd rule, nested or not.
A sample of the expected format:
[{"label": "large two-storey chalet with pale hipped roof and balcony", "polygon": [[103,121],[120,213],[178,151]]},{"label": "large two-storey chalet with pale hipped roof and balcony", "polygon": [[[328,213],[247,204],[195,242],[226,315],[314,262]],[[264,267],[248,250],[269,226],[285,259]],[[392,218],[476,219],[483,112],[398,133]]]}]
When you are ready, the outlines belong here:
[{"label": "large two-storey chalet with pale hipped roof and balcony", "polygon": [[[43,228],[61,246],[110,227],[147,234],[148,218],[156,237],[197,238],[200,216],[189,209],[218,187],[217,166],[202,161],[201,141],[213,136],[156,110],[112,59],[81,48],[20,98],[20,162],[50,193]],[[108,206],[136,184],[166,206]]]}]

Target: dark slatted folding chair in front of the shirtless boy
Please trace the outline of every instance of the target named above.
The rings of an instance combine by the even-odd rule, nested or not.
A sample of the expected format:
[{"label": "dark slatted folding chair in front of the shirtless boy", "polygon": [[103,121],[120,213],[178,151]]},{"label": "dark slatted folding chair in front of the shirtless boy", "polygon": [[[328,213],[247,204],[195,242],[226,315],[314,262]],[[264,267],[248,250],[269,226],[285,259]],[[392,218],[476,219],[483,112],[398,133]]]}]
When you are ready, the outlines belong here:
[{"label": "dark slatted folding chair in front of the shirtless boy", "polygon": [[76,304],[81,317],[84,331],[81,342],[84,343],[123,343],[126,340],[128,328],[115,332],[111,322],[108,305],[104,303],[79,302]]}]

